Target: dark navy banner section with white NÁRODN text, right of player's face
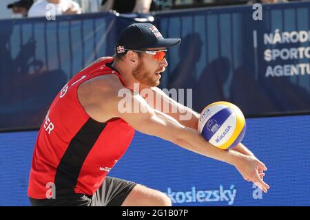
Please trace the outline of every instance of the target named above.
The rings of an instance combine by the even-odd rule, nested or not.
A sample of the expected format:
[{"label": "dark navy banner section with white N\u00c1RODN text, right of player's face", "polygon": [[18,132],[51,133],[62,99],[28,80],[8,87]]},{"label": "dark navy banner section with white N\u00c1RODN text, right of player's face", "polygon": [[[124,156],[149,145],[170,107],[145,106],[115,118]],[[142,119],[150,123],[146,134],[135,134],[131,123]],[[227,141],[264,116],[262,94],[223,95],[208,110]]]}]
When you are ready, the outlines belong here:
[{"label": "dark navy banner section with white N\u00c1RODN text, right of player's face", "polygon": [[309,4],[262,5],[157,14],[182,43],[167,56],[162,88],[193,89],[198,112],[227,100],[246,115],[310,110]]}]

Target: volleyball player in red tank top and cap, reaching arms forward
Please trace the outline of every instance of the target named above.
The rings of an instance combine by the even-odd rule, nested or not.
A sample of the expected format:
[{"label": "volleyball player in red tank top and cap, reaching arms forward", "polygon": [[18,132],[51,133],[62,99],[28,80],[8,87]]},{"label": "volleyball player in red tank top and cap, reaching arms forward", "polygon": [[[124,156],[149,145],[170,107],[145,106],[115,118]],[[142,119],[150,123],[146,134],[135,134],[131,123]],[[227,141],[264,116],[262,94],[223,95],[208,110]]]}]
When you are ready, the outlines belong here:
[{"label": "volleyball player in red tank top and cap, reaching arms forward", "polygon": [[[130,145],[134,129],[227,162],[267,192],[262,180],[267,168],[251,151],[242,144],[229,151],[211,146],[198,134],[198,113],[156,87],[167,67],[167,48],[179,43],[164,39],[150,23],[132,24],[119,36],[113,58],[99,58],[61,89],[34,148],[28,187],[33,206],[170,206],[163,192],[107,177]],[[179,112],[164,113],[158,103],[147,103],[134,91],[134,83],[140,90],[152,89],[163,98],[161,104],[183,109],[191,119],[180,120]],[[120,109],[122,90],[130,93],[131,111]]]}]

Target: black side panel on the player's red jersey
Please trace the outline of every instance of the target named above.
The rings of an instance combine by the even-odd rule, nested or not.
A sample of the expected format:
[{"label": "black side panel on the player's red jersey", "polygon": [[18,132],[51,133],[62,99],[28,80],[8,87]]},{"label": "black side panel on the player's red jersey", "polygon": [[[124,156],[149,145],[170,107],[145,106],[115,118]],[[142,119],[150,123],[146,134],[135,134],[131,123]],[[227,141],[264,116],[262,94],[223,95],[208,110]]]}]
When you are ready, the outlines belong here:
[{"label": "black side panel on the player's red jersey", "polygon": [[74,193],[82,165],[106,125],[90,118],[72,138],[56,170],[56,197]]}]

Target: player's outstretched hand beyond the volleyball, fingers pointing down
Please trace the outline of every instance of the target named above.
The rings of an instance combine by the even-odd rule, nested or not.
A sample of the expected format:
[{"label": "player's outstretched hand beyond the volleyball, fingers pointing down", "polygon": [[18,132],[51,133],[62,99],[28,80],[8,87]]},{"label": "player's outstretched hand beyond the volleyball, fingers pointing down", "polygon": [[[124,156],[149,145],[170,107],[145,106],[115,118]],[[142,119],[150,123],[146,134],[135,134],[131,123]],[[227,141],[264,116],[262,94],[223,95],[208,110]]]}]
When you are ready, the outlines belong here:
[{"label": "player's outstretched hand beyond the volleyball, fingers pointing down", "polygon": [[242,155],[235,166],[245,180],[252,181],[264,192],[268,191],[270,187],[263,180],[265,176],[264,171],[267,170],[267,167],[259,159],[253,156]]}]

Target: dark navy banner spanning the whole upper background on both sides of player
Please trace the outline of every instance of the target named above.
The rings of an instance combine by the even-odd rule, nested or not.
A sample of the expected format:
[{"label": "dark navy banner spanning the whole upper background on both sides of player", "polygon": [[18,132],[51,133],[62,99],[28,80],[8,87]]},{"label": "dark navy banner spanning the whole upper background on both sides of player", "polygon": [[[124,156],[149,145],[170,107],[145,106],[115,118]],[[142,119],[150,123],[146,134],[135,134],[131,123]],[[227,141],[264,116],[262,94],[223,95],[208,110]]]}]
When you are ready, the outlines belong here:
[{"label": "dark navy banner spanning the whole upper background on both sides of player", "polygon": [[309,5],[263,5],[262,20],[244,5],[0,21],[0,130],[38,127],[69,78],[111,56],[128,24],[152,19],[182,39],[167,53],[161,88],[192,89],[184,104],[194,110],[226,100],[247,116],[309,112]]}]

